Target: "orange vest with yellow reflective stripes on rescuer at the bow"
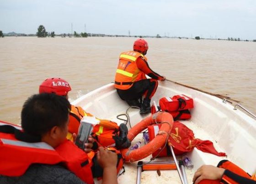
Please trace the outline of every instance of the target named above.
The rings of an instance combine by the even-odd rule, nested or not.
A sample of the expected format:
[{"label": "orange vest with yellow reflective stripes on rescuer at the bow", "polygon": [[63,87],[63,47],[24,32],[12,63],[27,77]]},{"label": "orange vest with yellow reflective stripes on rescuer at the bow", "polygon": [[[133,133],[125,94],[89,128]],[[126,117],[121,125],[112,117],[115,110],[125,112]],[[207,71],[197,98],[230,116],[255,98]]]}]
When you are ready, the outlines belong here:
[{"label": "orange vest with yellow reflective stripes on rescuer at the bow", "polygon": [[139,52],[128,51],[120,54],[115,77],[115,88],[129,89],[132,87],[133,82],[146,79],[145,74],[139,70],[136,64],[139,57],[147,61],[147,58]]}]

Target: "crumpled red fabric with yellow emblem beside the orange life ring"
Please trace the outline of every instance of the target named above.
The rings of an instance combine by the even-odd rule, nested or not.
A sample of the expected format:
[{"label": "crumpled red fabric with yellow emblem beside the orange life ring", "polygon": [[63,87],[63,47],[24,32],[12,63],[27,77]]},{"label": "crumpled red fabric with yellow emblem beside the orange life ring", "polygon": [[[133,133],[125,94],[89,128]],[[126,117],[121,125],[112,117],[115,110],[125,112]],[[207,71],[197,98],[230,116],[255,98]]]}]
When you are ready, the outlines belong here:
[{"label": "crumpled red fabric with yellow emblem beside the orange life ring", "polygon": [[[148,126],[149,139],[155,137],[154,126],[161,125]],[[202,152],[208,152],[217,156],[226,156],[224,152],[216,151],[216,149],[213,147],[213,142],[208,140],[203,141],[201,139],[195,138],[193,131],[179,121],[175,121],[173,124],[173,128],[171,130],[171,134],[169,137],[169,142],[173,146],[173,151],[176,155],[181,155],[186,152],[190,152],[193,150],[194,147],[196,147]]]}]

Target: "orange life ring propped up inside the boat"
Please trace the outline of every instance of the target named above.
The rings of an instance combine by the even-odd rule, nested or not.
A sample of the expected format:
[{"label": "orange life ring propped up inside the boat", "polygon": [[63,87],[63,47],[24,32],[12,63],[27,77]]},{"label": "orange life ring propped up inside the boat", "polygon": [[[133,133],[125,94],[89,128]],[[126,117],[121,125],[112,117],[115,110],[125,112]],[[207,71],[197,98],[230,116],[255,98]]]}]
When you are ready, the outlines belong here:
[{"label": "orange life ring propped up inside the boat", "polygon": [[171,132],[173,126],[173,118],[171,114],[167,112],[157,112],[140,121],[128,131],[127,137],[130,141],[132,141],[134,137],[136,137],[141,131],[145,130],[149,125],[153,125],[156,123],[162,123],[159,132],[163,133],[156,135],[152,141],[138,149],[122,149],[121,153],[123,155],[125,162],[135,162],[143,158],[146,158],[165,144],[166,138]]}]

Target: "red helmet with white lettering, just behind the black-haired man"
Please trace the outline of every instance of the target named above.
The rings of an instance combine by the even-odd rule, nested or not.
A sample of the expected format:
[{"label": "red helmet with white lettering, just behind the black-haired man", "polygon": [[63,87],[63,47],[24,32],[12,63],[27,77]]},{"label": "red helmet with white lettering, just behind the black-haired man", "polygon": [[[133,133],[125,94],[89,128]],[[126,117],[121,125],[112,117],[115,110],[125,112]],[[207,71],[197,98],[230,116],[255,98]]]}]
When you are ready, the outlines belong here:
[{"label": "red helmet with white lettering, just behind the black-haired man", "polygon": [[68,95],[71,87],[67,81],[60,78],[48,78],[39,86],[39,93],[55,93],[56,95]]}]

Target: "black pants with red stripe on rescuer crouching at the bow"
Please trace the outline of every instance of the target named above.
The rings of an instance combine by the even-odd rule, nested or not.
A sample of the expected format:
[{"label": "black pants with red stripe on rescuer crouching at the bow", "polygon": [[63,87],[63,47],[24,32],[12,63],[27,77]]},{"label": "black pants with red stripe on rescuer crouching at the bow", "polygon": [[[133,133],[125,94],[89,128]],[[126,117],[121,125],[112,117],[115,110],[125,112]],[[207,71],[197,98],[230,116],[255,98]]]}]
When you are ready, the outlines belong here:
[{"label": "black pants with red stripe on rescuer crouching at the bow", "polygon": [[145,95],[145,99],[150,100],[155,94],[158,82],[156,79],[143,79],[135,82],[129,89],[117,89],[117,94],[122,100],[139,99]]}]

